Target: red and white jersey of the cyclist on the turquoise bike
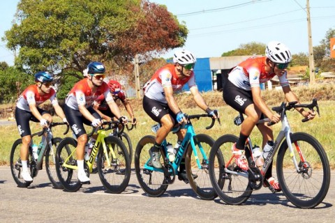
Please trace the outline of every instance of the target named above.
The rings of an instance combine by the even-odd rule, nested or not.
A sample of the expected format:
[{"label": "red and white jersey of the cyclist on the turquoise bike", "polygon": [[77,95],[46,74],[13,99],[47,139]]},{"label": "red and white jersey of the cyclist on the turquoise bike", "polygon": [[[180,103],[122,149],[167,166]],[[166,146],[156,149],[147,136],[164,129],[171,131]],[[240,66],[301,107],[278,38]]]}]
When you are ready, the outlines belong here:
[{"label": "red and white jersey of the cyclist on the turquoise bike", "polygon": [[174,64],[168,64],[154,73],[145,86],[144,95],[150,99],[168,103],[165,99],[163,88],[172,86],[173,91],[179,91],[186,83],[190,89],[197,88],[194,72],[192,72],[190,77],[178,79],[176,71],[174,70]]}]

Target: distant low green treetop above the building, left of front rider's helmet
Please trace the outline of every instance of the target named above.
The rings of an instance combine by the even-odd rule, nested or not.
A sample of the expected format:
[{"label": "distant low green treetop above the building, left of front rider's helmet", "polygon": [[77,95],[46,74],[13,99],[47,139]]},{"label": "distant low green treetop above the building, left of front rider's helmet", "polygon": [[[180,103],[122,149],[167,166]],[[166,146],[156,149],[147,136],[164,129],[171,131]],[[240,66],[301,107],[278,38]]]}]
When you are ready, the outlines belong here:
[{"label": "distant low green treetop above the building, left of front rider's helmet", "polygon": [[264,43],[251,42],[239,45],[239,48],[224,52],[221,56],[247,56],[247,55],[263,55],[267,45]]}]

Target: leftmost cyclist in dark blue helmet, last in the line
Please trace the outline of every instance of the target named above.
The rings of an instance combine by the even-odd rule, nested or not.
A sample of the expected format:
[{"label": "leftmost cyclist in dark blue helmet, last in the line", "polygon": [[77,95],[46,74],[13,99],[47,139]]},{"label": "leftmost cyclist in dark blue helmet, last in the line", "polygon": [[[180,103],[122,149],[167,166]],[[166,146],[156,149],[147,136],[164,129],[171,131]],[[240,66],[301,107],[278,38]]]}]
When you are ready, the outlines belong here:
[{"label": "leftmost cyclist in dark blue helmet, last in the line", "polygon": [[43,128],[47,127],[47,121],[52,123],[50,112],[40,109],[38,105],[46,100],[50,100],[56,114],[66,122],[63,109],[58,104],[56,91],[52,89],[53,77],[49,72],[41,71],[35,74],[35,82],[25,89],[17,99],[15,108],[15,120],[17,129],[22,137],[22,146],[20,151],[22,163],[22,178],[27,181],[33,181],[28,170],[29,144],[31,144],[31,130],[29,121],[39,122]]}]

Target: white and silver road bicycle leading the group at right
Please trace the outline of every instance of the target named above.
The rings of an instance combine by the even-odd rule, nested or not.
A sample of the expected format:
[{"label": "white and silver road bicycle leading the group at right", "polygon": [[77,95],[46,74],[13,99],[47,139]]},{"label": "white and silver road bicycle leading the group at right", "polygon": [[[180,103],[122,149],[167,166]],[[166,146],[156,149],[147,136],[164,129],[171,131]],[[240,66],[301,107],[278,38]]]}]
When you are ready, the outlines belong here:
[{"label": "white and silver road bicycle leading the group at right", "polygon": [[[209,174],[215,192],[225,203],[244,203],[253,190],[259,190],[263,185],[263,173],[269,169],[276,153],[276,173],[285,197],[299,208],[313,208],[323,201],[330,183],[330,167],[325,150],[311,134],[293,133],[286,115],[287,111],[301,107],[316,108],[320,116],[316,99],[308,105],[283,102],[280,107],[272,108],[281,115],[282,127],[260,169],[255,167],[250,138],[245,147],[248,171],[243,171],[234,163],[231,148],[238,139],[236,136],[225,134],[216,140],[209,155]],[[234,123],[239,125],[242,121],[240,114]]]}]

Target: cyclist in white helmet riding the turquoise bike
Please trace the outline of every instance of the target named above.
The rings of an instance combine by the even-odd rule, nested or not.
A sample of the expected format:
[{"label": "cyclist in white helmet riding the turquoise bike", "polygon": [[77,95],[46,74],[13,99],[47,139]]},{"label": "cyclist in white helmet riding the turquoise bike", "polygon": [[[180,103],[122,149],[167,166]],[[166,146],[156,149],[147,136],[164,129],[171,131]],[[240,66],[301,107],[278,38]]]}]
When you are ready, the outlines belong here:
[{"label": "cyclist in white helmet riding the turquoise bike", "polygon": [[[193,95],[195,103],[208,114],[213,115],[215,110],[209,109],[207,103],[202,98],[195,84],[195,75],[193,68],[195,66],[195,56],[188,50],[179,50],[174,53],[173,63],[158,69],[146,84],[143,98],[144,111],[156,122],[161,123],[161,128],[156,133],[154,146],[149,150],[151,164],[155,168],[162,168],[160,162],[160,148],[165,137],[174,125],[184,123],[185,115],[181,112],[176,99],[173,96],[174,91],[179,91],[188,84]],[[185,130],[181,130],[178,139],[184,138]],[[181,162],[182,164],[184,161]],[[184,165],[179,169],[179,180],[187,180]]]}]

